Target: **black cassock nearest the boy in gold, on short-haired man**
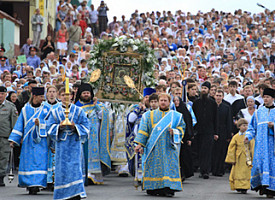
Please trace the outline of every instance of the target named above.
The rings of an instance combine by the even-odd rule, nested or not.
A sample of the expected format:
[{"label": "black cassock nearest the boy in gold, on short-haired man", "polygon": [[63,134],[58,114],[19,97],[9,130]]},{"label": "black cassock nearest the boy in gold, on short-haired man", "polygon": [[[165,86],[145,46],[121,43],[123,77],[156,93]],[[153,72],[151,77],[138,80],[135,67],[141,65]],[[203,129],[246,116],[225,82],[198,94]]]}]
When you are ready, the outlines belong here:
[{"label": "black cassock nearest the boy in gold, on short-haired man", "polygon": [[218,136],[219,139],[214,141],[212,150],[212,174],[222,176],[225,173],[225,157],[228,148],[228,139],[231,138],[232,114],[229,105],[222,102],[218,106]]}]

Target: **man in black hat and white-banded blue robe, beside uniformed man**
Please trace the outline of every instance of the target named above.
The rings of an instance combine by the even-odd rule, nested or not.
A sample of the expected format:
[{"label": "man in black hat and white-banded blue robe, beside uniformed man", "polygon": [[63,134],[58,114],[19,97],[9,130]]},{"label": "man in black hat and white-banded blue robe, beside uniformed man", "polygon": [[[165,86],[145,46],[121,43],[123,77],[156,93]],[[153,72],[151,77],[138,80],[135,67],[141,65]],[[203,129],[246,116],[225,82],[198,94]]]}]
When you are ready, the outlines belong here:
[{"label": "man in black hat and white-banded blue robe, beside uniformed man", "polygon": [[44,88],[33,87],[27,103],[10,134],[11,147],[20,145],[18,179],[20,187],[27,187],[29,194],[37,194],[47,186],[48,144],[45,118],[50,110],[45,104]]}]

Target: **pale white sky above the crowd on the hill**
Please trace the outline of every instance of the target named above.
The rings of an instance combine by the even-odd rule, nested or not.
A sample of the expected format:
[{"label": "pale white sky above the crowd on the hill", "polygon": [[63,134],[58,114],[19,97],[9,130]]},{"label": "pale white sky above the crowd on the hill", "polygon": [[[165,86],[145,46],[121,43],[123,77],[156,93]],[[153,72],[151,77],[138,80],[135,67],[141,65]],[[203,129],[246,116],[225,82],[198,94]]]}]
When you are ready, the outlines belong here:
[{"label": "pale white sky above the crowd on the hill", "polygon": [[[100,0],[92,0],[95,7],[99,6]],[[118,20],[124,14],[129,19],[131,13],[138,9],[139,13],[170,10],[175,13],[181,9],[183,12],[190,11],[192,14],[198,10],[202,12],[210,11],[215,8],[218,11],[234,12],[236,9],[259,13],[264,11],[263,8],[257,6],[261,3],[270,10],[275,9],[275,0],[105,0],[109,7],[109,22],[113,16],[117,16]]]}]

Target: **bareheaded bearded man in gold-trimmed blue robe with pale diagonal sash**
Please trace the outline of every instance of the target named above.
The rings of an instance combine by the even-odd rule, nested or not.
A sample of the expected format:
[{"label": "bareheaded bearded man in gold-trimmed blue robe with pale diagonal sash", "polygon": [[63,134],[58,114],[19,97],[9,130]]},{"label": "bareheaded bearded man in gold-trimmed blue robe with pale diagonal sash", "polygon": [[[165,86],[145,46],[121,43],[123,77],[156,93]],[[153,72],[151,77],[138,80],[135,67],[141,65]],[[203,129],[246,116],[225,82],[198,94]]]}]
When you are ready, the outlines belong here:
[{"label": "bareheaded bearded man in gold-trimmed blue robe with pale diagonal sash", "polygon": [[170,101],[170,95],[159,95],[159,109],[143,114],[135,138],[135,151],[143,153],[142,188],[154,196],[182,190],[179,151],[185,123],[182,114],[169,109]]}]

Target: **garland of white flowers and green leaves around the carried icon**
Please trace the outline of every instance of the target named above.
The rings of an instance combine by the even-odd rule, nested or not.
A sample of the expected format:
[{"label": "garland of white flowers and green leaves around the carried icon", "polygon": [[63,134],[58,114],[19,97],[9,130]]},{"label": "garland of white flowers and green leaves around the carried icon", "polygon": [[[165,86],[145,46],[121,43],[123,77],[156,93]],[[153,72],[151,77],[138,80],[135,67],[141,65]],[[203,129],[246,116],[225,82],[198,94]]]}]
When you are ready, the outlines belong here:
[{"label": "garland of white flowers and green leaves around the carried icon", "polygon": [[[105,59],[105,65],[103,60],[103,54],[110,50],[117,50],[120,53],[126,53],[128,49],[131,48],[134,53],[139,53],[142,55],[141,63],[139,63],[139,59],[127,56],[107,56]],[[131,70],[134,72],[131,77],[135,83],[139,82],[139,74],[138,66],[141,65],[142,70],[142,80],[141,83],[143,87],[154,87],[156,84],[156,80],[153,77],[154,65],[157,63],[157,59],[154,55],[154,51],[144,42],[139,39],[127,38],[126,36],[116,37],[111,40],[99,40],[97,45],[94,45],[93,50],[90,52],[90,60],[88,63],[89,69],[94,71],[95,69],[100,69],[102,74],[100,78],[92,83],[95,88],[99,88],[101,82],[111,82],[112,77],[109,77],[106,71],[111,72],[112,64],[131,64]],[[106,67],[103,70],[103,67]],[[90,72],[90,73],[91,73]],[[104,88],[106,93],[121,93],[127,96],[128,93],[135,94],[136,91],[131,88],[111,88],[106,85]]]}]

